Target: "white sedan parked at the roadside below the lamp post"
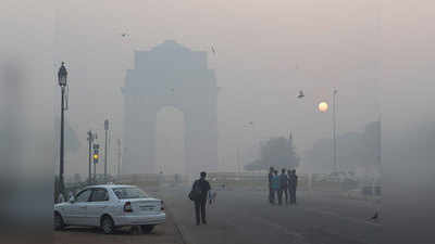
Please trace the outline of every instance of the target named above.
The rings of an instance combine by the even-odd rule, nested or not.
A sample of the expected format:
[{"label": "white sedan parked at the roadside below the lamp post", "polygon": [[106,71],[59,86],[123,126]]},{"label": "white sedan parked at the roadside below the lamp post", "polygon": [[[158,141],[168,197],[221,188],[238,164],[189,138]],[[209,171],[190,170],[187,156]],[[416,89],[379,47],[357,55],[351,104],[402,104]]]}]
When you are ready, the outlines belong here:
[{"label": "white sedan parked at the roadside below the lamp post", "polygon": [[133,185],[87,187],[69,202],[54,205],[55,230],[66,226],[101,227],[109,234],[117,227],[140,226],[148,233],[165,219],[163,201]]}]

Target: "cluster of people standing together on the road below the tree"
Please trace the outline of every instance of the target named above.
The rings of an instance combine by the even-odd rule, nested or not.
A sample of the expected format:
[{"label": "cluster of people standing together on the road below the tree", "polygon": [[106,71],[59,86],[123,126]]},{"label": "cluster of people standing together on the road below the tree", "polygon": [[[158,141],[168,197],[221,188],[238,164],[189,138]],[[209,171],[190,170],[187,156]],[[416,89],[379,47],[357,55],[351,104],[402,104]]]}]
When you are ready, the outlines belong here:
[{"label": "cluster of people standing together on the road below the tree", "polygon": [[269,171],[269,202],[275,204],[275,196],[279,205],[283,205],[283,194],[286,204],[296,204],[296,189],[298,187],[298,176],[296,169],[286,170],[283,168],[278,175],[278,170],[273,167]]}]

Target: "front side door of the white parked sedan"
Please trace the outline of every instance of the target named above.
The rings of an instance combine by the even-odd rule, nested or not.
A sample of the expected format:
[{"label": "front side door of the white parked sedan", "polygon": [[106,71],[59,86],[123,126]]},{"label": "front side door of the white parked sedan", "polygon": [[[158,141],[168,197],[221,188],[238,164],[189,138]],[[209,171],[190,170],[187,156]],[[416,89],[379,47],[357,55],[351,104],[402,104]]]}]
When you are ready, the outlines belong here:
[{"label": "front side door of the white parked sedan", "polygon": [[87,226],[87,204],[89,202],[92,189],[80,191],[75,201],[70,205],[70,224]]}]

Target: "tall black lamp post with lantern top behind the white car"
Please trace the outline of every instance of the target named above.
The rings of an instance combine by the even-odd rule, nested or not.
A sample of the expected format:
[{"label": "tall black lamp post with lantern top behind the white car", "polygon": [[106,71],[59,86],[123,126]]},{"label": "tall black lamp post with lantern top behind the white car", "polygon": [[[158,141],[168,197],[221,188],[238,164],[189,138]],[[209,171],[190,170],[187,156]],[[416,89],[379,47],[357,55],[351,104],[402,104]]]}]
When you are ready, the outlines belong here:
[{"label": "tall black lamp post with lantern top behind the white car", "polygon": [[66,77],[67,77],[67,72],[65,68],[65,63],[62,62],[61,67],[59,68],[58,72],[58,81],[59,81],[59,86],[61,87],[61,93],[62,93],[62,98],[61,98],[61,146],[60,146],[60,164],[59,164],[59,191],[61,192],[61,194],[63,194],[64,191],[64,182],[63,182],[63,152],[64,152],[64,143],[63,143],[63,131],[64,131],[64,116],[63,113],[66,110],[65,107],[65,87],[66,87]]}]

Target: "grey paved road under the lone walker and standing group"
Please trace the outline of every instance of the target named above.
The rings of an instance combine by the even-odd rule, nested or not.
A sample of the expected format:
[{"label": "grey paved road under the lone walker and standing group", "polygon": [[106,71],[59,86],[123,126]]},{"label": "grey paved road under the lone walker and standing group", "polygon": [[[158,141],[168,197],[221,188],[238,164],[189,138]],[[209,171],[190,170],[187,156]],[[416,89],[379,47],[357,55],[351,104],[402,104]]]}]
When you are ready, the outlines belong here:
[{"label": "grey paved road under the lone walker and standing group", "polygon": [[162,197],[189,244],[375,244],[382,234],[366,221],[374,204],[303,194],[297,206],[271,206],[253,191],[220,191],[209,224],[197,227],[187,191],[165,189]]}]

